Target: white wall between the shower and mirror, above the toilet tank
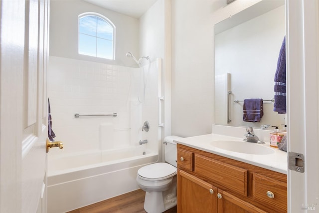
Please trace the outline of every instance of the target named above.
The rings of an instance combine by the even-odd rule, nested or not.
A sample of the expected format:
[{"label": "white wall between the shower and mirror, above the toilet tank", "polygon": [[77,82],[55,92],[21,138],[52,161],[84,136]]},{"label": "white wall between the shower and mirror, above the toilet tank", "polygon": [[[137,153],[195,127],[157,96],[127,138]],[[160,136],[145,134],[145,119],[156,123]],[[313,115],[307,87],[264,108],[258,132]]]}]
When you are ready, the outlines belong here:
[{"label": "white wall between the shower and mirror, above the toilet tank", "polygon": [[172,135],[211,133],[214,123],[214,24],[259,0],[174,0],[172,29]]}]

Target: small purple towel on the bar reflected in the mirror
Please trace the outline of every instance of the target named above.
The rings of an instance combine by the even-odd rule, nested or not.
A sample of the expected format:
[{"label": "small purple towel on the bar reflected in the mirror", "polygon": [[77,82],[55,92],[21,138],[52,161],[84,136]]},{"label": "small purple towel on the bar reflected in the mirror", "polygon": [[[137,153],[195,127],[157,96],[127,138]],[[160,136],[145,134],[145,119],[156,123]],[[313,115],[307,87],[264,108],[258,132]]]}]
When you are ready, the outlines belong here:
[{"label": "small purple towel on the bar reflected in the mirror", "polygon": [[252,98],[244,100],[244,116],[243,121],[260,122],[264,115],[263,99]]}]

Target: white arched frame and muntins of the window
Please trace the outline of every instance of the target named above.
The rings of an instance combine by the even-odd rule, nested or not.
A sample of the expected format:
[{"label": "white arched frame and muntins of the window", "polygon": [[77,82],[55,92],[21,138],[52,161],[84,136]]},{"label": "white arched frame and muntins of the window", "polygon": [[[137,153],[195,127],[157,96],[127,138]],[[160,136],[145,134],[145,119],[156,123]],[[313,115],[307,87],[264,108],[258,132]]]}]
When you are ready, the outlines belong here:
[{"label": "white arched frame and muntins of the window", "polygon": [[[98,57],[97,56],[97,43],[96,43],[96,49],[95,49],[95,55],[96,56],[92,56],[92,55],[86,55],[86,54],[81,54],[80,53],[80,18],[83,18],[85,16],[96,16],[97,18],[101,18],[102,20],[104,20],[105,22],[107,22],[108,24],[111,25],[113,31],[112,31],[112,37],[113,37],[113,40],[112,40],[112,58],[104,58],[104,57]],[[81,33],[81,34],[84,34],[84,33]],[[78,54],[79,55],[85,55],[85,56],[89,56],[89,57],[95,57],[95,58],[103,58],[103,59],[107,59],[107,60],[115,60],[115,40],[116,40],[116,27],[114,25],[114,23],[107,17],[105,17],[104,15],[100,14],[100,13],[97,13],[97,12],[84,12],[84,13],[81,13],[79,14],[78,16]],[[96,36],[92,36],[92,37],[95,37],[96,40],[97,38],[99,38],[97,35]]]}]

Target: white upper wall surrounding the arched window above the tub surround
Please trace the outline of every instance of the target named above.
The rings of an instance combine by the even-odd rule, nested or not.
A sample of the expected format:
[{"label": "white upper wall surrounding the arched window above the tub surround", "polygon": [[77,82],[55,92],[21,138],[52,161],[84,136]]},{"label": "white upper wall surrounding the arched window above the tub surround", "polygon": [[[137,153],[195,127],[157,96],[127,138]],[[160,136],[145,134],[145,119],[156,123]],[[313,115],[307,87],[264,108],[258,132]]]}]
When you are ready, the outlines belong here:
[{"label": "white upper wall surrounding the arched window above the tub surround", "polygon": [[[115,60],[78,54],[78,16],[98,12],[116,26]],[[126,52],[139,52],[139,20],[82,0],[52,0],[50,3],[50,55],[108,64],[136,66]]]}]

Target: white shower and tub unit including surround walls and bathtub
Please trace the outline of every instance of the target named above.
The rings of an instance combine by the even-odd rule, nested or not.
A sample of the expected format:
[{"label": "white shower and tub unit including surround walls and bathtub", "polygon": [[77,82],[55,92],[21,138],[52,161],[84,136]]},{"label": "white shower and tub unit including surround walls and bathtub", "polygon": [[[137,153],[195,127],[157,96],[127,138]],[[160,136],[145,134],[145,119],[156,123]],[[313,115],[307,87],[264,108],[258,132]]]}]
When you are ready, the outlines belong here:
[{"label": "white shower and tub unit including surround walls and bathtub", "polygon": [[[134,57],[132,53],[128,56]],[[138,170],[159,161],[159,128],[161,127],[153,124],[160,123],[159,109],[160,102],[163,102],[158,98],[162,59],[146,63],[145,67],[141,65],[141,60],[148,62],[148,57],[133,59],[139,64],[138,68],[109,66],[50,56],[49,65],[51,66],[49,66],[48,78],[52,80],[49,82],[48,91],[51,110],[56,110],[54,132],[59,137],[57,139],[61,138],[65,141],[65,146],[61,151],[52,150],[48,154],[48,213],[65,213],[137,190],[139,189],[136,181]],[[87,73],[87,70],[93,71]],[[87,73],[87,76],[90,76],[89,74],[93,76],[77,75],[78,71]],[[110,74],[112,78],[104,79],[106,76],[101,77],[101,73],[107,76]],[[72,83],[64,88],[74,87],[77,93],[73,94],[73,89],[54,91],[55,87],[52,85],[58,84],[61,76],[64,76],[65,82]],[[77,78],[73,79],[73,76]],[[128,81],[129,76],[133,76],[132,82]],[[109,82],[109,79],[114,81]],[[82,86],[83,82],[87,82],[84,84],[86,87]],[[102,86],[105,84],[114,86],[115,91],[122,91],[123,94],[105,93],[109,91],[103,90],[105,88]],[[128,95],[130,84],[133,88],[131,96]],[[135,92],[139,90],[133,87],[139,84],[143,85],[140,89],[140,97]],[[84,90],[79,90],[81,93],[77,90],[78,85],[81,85],[80,88]],[[96,85],[100,85],[101,89],[94,90]],[[124,88],[118,88],[119,86]],[[85,91],[86,88],[88,91]],[[102,92],[96,95],[95,93],[99,91]],[[91,99],[81,96],[82,99],[70,100],[84,92]],[[95,93],[92,94],[92,92]],[[106,94],[109,96],[105,97]],[[104,99],[100,102],[102,97]],[[116,99],[109,100],[109,97]],[[85,103],[88,101],[90,104],[97,103],[97,106],[88,108],[86,105],[81,105],[83,100],[86,100]],[[54,105],[54,103],[57,104]],[[128,108],[126,108],[127,103],[130,103]],[[118,113],[116,117],[77,118],[71,114],[71,112],[101,114],[99,111],[91,110],[100,108],[105,110],[109,106],[112,106],[111,112]],[[149,132],[141,129],[146,120],[151,124]],[[139,141],[144,139],[148,140],[148,144],[140,145]]]}]

